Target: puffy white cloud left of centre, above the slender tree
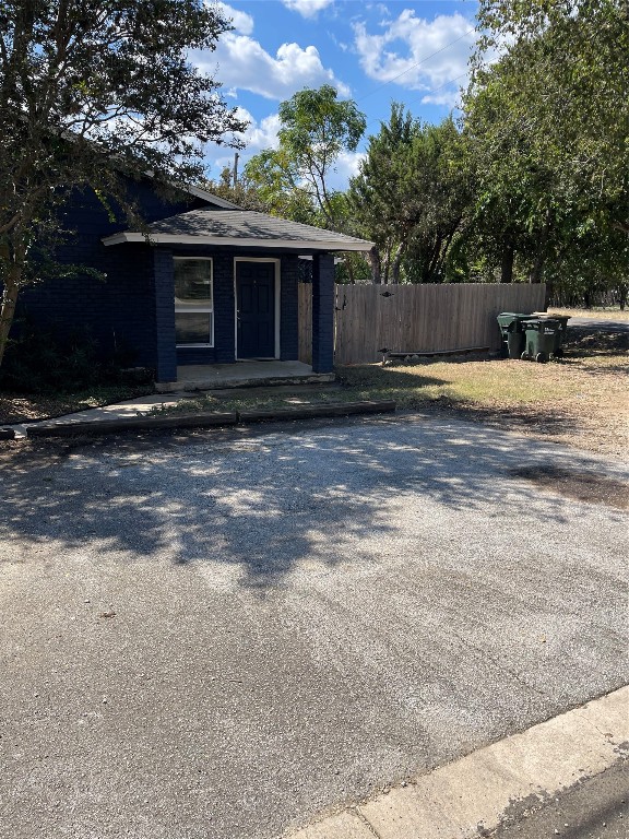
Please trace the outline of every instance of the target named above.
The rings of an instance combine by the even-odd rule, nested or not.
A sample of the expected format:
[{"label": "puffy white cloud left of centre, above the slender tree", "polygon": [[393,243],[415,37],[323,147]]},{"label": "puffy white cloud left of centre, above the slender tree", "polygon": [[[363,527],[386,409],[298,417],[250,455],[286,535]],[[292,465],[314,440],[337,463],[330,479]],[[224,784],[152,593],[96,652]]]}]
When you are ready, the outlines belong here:
[{"label": "puffy white cloud left of centre, above the slender tree", "polygon": [[214,52],[195,52],[191,58],[205,72],[215,71],[227,90],[250,91],[268,99],[286,99],[302,87],[322,84],[333,85],[342,96],[349,95],[347,85],[323,67],[313,46],[302,49],[298,44],[282,44],[273,57],[248,35],[229,32]]}]

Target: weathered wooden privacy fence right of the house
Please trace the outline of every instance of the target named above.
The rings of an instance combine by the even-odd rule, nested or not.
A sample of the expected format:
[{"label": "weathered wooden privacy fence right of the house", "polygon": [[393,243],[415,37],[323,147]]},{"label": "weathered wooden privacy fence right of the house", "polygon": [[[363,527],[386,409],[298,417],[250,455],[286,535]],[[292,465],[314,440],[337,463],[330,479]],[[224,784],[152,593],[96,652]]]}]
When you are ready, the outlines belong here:
[{"label": "weathered wooden privacy fence right of the house", "polygon": [[[337,285],[336,364],[368,364],[392,353],[500,348],[500,311],[537,311],[543,284]],[[310,363],[311,287],[299,287],[299,358]]]}]

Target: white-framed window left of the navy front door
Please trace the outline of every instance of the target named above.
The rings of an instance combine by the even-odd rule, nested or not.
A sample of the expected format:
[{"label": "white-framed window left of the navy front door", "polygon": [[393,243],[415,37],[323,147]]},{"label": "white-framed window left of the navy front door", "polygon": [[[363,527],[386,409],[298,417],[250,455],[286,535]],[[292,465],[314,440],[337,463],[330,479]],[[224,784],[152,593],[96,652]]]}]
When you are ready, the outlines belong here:
[{"label": "white-framed window left of the navy front door", "polygon": [[175,257],[177,346],[214,346],[212,260]]}]

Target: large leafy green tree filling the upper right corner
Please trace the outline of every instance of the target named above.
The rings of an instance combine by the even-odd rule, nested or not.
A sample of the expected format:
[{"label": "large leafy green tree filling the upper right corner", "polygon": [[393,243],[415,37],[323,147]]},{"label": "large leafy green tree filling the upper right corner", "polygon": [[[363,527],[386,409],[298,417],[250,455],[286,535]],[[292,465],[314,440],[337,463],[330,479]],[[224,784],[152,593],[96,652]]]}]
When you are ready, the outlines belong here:
[{"label": "large leafy green tree filling the upper right corner", "polygon": [[[629,234],[629,11],[621,0],[482,0],[464,101],[475,229],[532,282]],[[507,45],[507,47],[506,47]],[[503,55],[495,63],[484,50]],[[618,264],[619,260],[610,262]],[[621,262],[621,260],[620,260]],[[579,271],[582,282],[582,271]]]}]

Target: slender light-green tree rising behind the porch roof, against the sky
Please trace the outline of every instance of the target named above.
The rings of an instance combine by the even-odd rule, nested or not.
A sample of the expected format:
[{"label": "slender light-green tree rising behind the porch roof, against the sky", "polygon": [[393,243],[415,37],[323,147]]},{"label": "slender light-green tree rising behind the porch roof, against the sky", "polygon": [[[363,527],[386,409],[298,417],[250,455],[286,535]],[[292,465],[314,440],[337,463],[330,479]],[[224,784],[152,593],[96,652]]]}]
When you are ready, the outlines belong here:
[{"label": "slender light-green tree rising behind the porch roof, against the sky", "polygon": [[[280,105],[280,145],[254,155],[245,177],[273,212],[336,229],[340,204],[330,188],[342,152],[354,152],[366,120],[331,85],[304,90]],[[309,216],[305,218],[305,216]]]}]

